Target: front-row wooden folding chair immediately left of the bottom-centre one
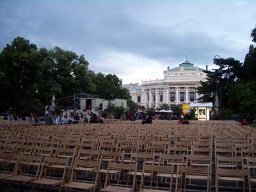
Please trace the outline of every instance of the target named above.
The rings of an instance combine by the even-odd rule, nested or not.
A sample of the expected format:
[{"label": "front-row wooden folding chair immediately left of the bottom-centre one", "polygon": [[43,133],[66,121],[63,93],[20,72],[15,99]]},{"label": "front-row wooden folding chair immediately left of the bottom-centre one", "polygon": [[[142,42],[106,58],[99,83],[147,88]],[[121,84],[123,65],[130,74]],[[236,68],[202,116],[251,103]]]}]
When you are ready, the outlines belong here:
[{"label": "front-row wooden folding chair immediately left of the bottom-centre one", "polygon": [[94,192],[97,187],[100,165],[100,161],[86,161],[76,157],[70,180],[63,187]]}]

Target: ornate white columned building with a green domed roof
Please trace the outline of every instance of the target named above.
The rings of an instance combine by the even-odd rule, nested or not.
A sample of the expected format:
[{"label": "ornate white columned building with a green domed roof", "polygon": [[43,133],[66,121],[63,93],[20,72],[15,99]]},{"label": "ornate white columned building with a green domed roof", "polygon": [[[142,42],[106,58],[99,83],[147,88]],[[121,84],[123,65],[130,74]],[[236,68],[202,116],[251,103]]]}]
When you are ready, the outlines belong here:
[{"label": "ornate white columned building with a green domed roof", "polygon": [[132,101],[145,106],[145,108],[159,108],[163,104],[189,104],[199,98],[195,88],[200,86],[200,81],[205,81],[204,69],[195,67],[189,61],[181,63],[179,67],[167,67],[164,79],[142,81],[139,85],[125,84]]}]

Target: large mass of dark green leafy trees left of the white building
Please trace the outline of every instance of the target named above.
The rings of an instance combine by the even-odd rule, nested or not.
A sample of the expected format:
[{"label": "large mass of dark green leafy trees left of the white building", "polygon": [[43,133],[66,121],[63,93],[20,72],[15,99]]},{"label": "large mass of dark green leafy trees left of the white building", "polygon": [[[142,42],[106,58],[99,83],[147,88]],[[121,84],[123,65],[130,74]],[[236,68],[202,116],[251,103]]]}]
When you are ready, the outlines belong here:
[{"label": "large mass of dark green leafy trees left of the white building", "polygon": [[130,101],[115,74],[95,73],[83,55],[60,47],[36,47],[17,37],[0,52],[0,111],[44,113],[45,105],[73,93],[92,93],[102,99]]}]

